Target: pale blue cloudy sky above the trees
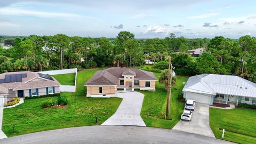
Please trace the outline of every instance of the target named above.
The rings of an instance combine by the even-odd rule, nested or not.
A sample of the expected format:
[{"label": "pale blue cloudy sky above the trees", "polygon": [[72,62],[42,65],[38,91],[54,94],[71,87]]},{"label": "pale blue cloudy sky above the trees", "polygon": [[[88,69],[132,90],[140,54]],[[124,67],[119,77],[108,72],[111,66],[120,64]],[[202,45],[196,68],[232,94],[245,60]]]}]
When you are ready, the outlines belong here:
[{"label": "pale blue cloudy sky above the trees", "polygon": [[256,36],[256,1],[1,0],[0,35],[136,38]]}]

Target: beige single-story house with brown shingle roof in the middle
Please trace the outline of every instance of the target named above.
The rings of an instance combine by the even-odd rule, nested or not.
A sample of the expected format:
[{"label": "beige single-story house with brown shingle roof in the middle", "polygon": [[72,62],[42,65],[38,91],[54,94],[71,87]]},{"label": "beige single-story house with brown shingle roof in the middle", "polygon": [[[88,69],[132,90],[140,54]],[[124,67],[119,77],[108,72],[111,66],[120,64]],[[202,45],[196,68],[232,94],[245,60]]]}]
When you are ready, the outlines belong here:
[{"label": "beige single-story house with brown shingle roof in the middle", "polygon": [[97,71],[84,85],[87,97],[111,97],[117,89],[124,91],[156,90],[156,76],[137,68],[112,67]]}]

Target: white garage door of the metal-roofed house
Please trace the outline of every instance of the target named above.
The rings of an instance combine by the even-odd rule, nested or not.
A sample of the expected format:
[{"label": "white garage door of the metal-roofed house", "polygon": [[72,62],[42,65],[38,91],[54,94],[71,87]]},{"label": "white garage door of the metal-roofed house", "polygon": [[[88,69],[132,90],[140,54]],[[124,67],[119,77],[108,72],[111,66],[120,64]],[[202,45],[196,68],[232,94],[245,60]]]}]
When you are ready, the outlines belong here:
[{"label": "white garage door of the metal-roofed house", "polygon": [[199,103],[206,103],[209,104],[210,101],[210,95],[204,95],[204,94],[198,94],[198,93],[192,93],[192,92],[186,92],[186,100],[195,100]]}]

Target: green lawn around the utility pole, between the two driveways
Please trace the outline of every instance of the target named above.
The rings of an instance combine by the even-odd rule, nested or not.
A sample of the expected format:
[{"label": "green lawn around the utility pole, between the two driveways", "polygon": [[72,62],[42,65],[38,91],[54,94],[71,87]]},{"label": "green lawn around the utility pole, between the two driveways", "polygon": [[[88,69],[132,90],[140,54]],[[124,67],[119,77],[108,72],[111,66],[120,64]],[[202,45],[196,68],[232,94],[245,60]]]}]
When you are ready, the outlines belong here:
[{"label": "green lawn around the utility pole, between the two driveways", "polygon": [[[158,78],[160,73],[154,73]],[[147,126],[172,129],[180,121],[180,115],[184,104],[179,102],[177,97],[183,89],[182,82],[187,82],[188,77],[177,76],[177,82],[172,87],[170,117],[165,119],[166,112],[166,90],[165,86],[156,82],[156,91],[140,91],[145,94],[141,117]],[[162,116],[162,113],[164,115]]]}]

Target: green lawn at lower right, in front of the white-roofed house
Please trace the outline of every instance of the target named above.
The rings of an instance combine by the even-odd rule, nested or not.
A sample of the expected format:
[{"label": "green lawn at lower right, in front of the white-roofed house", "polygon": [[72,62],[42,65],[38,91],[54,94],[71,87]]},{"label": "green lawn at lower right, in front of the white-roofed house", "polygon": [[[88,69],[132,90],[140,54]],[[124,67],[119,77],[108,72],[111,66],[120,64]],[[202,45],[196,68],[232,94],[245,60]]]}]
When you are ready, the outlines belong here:
[{"label": "green lawn at lower right, in front of the white-roofed house", "polygon": [[[256,143],[256,110],[210,108],[210,127],[218,139]],[[222,130],[225,137],[222,138]]]}]

